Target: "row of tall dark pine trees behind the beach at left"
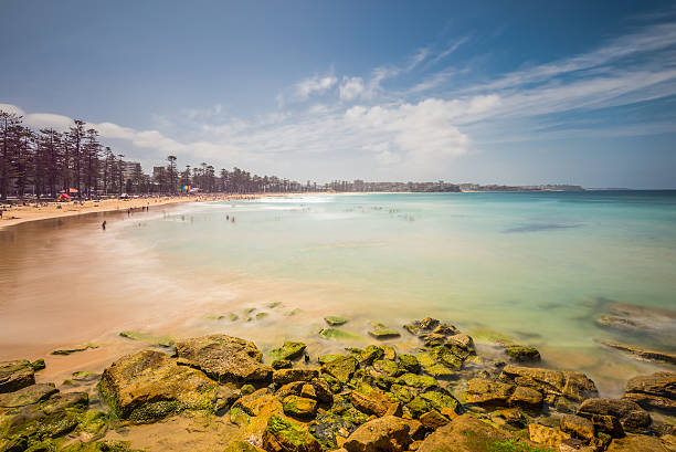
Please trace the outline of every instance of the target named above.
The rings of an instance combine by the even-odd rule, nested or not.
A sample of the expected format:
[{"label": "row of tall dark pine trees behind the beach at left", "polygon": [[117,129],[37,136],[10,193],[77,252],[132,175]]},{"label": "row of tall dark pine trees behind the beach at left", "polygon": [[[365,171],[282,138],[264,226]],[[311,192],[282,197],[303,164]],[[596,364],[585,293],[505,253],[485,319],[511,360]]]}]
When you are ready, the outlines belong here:
[{"label": "row of tall dark pine trees behind the beach at left", "polygon": [[179,170],[176,156],[142,172],[139,164],[124,160],[98,139],[95,128],[75,119],[65,132],[33,130],[22,116],[0,111],[0,200],[10,196],[57,198],[66,192],[77,198],[122,195],[178,195],[205,192],[289,192],[308,186],[276,176],[251,175],[240,168],[221,169],[202,162]]}]

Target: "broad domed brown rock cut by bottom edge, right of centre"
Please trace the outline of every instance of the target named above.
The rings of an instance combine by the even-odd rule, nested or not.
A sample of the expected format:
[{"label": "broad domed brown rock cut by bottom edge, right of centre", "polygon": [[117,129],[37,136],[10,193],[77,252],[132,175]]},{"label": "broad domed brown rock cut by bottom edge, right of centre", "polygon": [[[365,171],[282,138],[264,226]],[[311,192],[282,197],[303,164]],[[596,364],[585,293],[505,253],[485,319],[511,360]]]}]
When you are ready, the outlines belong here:
[{"label": "broad domed brown rock cut by bottom edge, right of centre", "polygon": [[[469,414],[457,417],[430,434],[418,452],[486,452],[508,439],[507,433]],[[492,449],[488,449],[492,448]],[[514,448],[517,451],[519,449]]]}]

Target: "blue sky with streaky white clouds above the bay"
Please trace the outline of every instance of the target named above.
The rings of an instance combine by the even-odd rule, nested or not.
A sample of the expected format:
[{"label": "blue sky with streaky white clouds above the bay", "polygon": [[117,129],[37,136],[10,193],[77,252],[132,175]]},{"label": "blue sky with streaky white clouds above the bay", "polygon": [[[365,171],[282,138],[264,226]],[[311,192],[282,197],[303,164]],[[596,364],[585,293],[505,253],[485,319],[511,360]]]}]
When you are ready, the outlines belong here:
[{"label": "blue sky with streaky white clouds above the bay", "polygon": [[0,109],[146,171],[676,188],[673,1],[0,2]]}]

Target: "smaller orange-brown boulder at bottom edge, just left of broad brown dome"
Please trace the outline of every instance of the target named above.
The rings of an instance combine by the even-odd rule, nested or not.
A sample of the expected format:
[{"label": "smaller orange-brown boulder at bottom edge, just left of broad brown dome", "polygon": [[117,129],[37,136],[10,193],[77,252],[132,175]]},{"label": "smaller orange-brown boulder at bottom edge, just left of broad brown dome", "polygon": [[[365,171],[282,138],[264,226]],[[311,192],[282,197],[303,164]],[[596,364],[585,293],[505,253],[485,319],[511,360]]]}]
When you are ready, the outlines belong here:
[{"label": "smaller orange-brown boulder at bottom edge, just left of broad brown dome", "polygon": [[413,442],[410,425],[385,416],[359,427],[342,445],[348,452],[401,452]]}]

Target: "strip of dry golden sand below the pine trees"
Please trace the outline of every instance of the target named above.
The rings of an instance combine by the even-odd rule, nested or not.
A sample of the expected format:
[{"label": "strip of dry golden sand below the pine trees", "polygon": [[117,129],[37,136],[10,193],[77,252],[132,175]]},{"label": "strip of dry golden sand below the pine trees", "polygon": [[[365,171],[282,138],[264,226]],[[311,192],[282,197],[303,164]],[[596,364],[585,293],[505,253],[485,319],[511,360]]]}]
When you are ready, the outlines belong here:
[{"label": "strip of dry golden sand below the pine trees", "polygon": [[105,199],[101,201],[73,201],[73,202],[30,202],[27,206],[4,207],[0,218],[0,230],[15,224],[31,221],[52,220],[65,217],[83,216],[88,213],[115,212],[125,210],[138,210],[148,207],[167,207],[184,202],[211,202],[233,201],[245,199],[261,199],[268,197],[298,197],[325,193],[208,193],[197,196],[173,196],[130,199]]}]

